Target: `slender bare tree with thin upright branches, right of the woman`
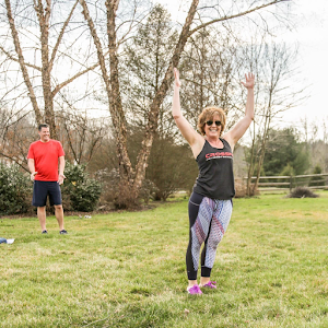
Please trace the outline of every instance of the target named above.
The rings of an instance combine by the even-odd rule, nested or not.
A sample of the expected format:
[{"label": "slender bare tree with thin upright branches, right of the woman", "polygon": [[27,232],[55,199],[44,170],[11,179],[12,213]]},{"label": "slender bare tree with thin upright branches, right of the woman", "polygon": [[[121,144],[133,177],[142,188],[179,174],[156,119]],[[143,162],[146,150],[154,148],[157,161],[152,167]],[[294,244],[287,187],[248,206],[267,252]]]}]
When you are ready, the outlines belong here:
[{"label": "slender bare tree with thin upright branches, right of the woman", "polygon": [[[258,187],[268,133],[272,122],[279,118],[281,113],[296,106],[304,99],[304,86],[295,87],[292,83],[297,75],[294,66],[296,55],[295,48],[288,48],[283,43],[266,43],[263,40],[261,44],[250,44],[245,48],[245,58],[257,75],[256,120],[251,131],[250,157],[248,160],[248,195],[254,195]],[[251,187],[250,177],[254,172],[256,172],[256,180]]]}]

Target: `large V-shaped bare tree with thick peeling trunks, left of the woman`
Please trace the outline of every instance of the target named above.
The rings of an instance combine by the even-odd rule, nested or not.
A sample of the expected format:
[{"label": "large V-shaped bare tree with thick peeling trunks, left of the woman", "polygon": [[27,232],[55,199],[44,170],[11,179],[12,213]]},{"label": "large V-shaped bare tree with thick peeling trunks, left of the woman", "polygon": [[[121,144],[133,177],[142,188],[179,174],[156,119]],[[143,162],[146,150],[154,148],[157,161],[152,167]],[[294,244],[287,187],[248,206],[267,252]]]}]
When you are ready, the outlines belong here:
[{"label": "large V-shaped bare tree with thick peeling trunks, left of the woman", "polygon": [[[201,17],[202,12],[204,13],[204,15],[207,14],[209,7],[198,9],[199,0],[192,0],[190,2],[185,24],[180,30],[178,40],[172,52],[171,62],[167,63],[167,69],[164,74],[164,78],[160,83],[156,94],[154,95],[153,101],[149,106],[145,133],[142,141],[141,151],[137,159],[136,167],[133,168],[127,151],[126,117],[122,108],[120,84],[119,84],[118,69],[119,69],[120,40],[117,37],[117,32],[119,26],[117,25],[117,21],[116,21],[118,14],[118,8],[119,8],[119,0],[109,0],[105,2],[106,15],[107,15],[107,38],[108,38],[108,44],[106,45],[106,47],[108,47],[108,51],[109,51],[109,71],[106,67],[103,45],[101,43],[101,38],[98,36],[98,31],[96,28],[96,25],[92,19],[92,14],[89,10],[86,1],[80,0],[80,3],[83,8],[83,15],[85,17],[85,21],[87,22],[91,35],[94,39],[94,44],[97,50],[98,61],[101,65],[102,77],[106,87],[106,93],[109,103],[109,110],[110,110],[113,125],[115,129],[115,137],[117,139],[117,153],[118,153],[118,162],[120,167],[120,176],[125,180],[125,184],[129,185],[131,194],[133,194],[136,197],[138,196],[139,189],[144,179],[149,154],[151,151],[155,131],[157,129],[160,107],[172,84],[173,68],[178,66],[181,52],[185,48],[188,38],[197,31],[206,26],[209,26],[213,23],[223,22],[230,19],[247,15],[253,12],[260,11],[265,8],[268,8],[270,5],[278,4],[280,2],[285,2],[285,1],[279,1],[279,0],[270,1],[270,2],[253,1],[251,4],[248,5],[246,10],[233,12],[235,8],[232,7],[230,14],[222,12],[221,8],[218,7],[216,8],[218,16],[210,20],[203,16],[203,19],[207,22],[201,22],[201,23],[199,23],[199,20],[195,19],[197,10],[199,10],[198,11],[199,17]],[[211,8],[213,9],[213,7]]]}]

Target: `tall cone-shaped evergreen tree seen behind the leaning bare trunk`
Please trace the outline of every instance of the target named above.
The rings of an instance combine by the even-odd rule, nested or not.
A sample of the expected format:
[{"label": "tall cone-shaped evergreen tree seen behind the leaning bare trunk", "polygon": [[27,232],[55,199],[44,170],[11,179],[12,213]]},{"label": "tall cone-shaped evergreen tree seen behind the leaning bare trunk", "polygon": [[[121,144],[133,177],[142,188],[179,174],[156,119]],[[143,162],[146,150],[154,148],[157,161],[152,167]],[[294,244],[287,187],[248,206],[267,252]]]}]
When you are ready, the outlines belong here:
[{"label": "tall cone-shaped evergreen tree seen behind the leaning bare trunk", "polygon": [[[125,47],[121,60],[121,85],[125,92],[124,107],[128,121],[144,128],[148,122],[149,106],[153,101],[167,69],[177,33],[172,26],[171,16],[161,4],[156,4],[144,25]],[[172,127],[171,104],[164,101],[160,109],[159,131],[163,134]]]}]

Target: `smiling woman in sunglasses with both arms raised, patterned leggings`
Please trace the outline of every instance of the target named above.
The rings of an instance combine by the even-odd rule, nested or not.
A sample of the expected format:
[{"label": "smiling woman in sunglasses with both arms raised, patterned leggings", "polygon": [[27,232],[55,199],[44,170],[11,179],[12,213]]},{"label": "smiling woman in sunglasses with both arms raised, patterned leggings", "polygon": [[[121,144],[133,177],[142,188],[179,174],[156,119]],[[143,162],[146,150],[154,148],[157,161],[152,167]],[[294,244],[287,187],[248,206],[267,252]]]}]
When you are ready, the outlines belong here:
[{"label": "smiling woman in sunglasses with both arms raised, patterned leggings", "polygon": [[[186,254],[189,294],[202,294],[201,289],[215,289],[210,280],[216,248],[226,232],[235,195],[233,150],[254,119],[253,73],[245,74],[247,102],[245,117],[224,134],[226,117],[223,109],[207,107],[198,117],[199,134],[183,116],[179,101],[179,72],[174,69],[175,84],[172,115],[181,134],[190,144],[198,164],[199,175],[189,199],[189,244]],[[201,277],[197,283],[200,247]]]}]

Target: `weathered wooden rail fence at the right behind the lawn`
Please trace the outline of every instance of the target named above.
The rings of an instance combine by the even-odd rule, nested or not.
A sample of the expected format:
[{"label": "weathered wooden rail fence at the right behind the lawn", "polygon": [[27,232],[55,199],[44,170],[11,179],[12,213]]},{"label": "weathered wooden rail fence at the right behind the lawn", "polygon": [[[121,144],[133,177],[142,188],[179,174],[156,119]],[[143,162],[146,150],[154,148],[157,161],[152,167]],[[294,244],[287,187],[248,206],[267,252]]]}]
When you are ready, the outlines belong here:
[{"label": "weathered wooden rail fence at the right behind the lawn", "polygon": [[[254,184],[256,177],[251,177]],[[247,184],[247,177],[244,178]],[[291,191],[296,187],[308,187],[312,189],[328,189],[328,173],[295,175],[295,176],[260,176],[258,183],[259,191],[285,190]]]}]

